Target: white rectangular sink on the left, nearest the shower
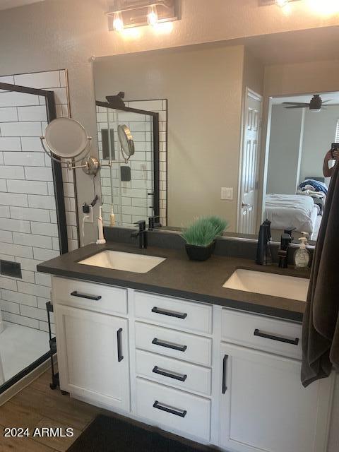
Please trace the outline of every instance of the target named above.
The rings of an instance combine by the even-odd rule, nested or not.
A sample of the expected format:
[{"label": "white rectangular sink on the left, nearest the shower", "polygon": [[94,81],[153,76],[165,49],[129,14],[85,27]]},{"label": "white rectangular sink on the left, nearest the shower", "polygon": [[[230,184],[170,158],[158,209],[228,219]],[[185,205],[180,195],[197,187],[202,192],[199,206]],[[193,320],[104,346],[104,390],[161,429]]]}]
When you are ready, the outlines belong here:
[{"label": "white rectangular sink on the left, nearest the shower", "polygon": [[152,270],[152,268],[155,268],[165,261],[165,259],[165,257],[145,256],[143,254],[106,250],[85,258],[78,263],[85,266],[112,268],[112,270],[147,273]]}]

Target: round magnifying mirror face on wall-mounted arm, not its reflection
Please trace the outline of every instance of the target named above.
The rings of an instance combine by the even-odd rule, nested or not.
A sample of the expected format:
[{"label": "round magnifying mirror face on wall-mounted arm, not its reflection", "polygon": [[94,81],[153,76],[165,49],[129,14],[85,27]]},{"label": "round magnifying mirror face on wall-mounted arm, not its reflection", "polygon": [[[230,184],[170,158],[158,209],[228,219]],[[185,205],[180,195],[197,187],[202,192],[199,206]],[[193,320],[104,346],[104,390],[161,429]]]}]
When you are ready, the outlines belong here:
[{"label": "round magnifying mirror face on wall-mounted arm, not its reflection", "polygon": [[78,157],[87,148],[90,137],[80,122],[71,118],[57,118],[44,131],[49,150],[61,158]]}]

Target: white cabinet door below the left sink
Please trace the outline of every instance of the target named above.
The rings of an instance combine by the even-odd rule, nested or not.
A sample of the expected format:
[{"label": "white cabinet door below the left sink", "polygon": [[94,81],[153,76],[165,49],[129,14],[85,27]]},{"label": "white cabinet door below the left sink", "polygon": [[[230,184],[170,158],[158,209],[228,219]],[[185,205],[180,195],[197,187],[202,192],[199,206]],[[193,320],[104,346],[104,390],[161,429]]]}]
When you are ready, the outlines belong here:
[{"label": "white cabinet door below the left sink", "polygon": [[55,311],[61,389],[129,410],[128,321],[61,305]]}]

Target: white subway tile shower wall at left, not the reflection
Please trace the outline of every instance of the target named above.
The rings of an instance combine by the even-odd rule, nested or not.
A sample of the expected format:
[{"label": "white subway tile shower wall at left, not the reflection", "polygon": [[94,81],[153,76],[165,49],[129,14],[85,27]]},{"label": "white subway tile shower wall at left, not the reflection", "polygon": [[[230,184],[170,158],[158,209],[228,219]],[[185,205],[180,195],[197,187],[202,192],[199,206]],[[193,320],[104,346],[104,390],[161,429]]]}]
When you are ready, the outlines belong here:
[{"label": "white subway tile shower wall at left, not the reflection", "polygon": [[[69,116],[67,72],[0,77],[0,82],[54,91],[57,116]],[[40,136],[47,125],[44,97],[0,92],[0,259],[21,264],[22,279],[0,275],[4,321],[47,331],[49,275],[37,263],[59,255],[52,167]],[[63,170],[69,249],[78,247],[73,172]]]}]

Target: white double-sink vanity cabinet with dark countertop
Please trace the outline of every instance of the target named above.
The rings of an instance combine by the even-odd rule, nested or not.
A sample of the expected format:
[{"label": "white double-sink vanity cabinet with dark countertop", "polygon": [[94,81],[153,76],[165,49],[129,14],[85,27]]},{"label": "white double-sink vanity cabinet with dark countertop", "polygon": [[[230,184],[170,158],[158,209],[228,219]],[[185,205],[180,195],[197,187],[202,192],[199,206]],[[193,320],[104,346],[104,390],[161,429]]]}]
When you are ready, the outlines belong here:
[{"label": "white double-sink vanity cabinet with dark countertop", "polygon": [[[163,261],[143,274],[79,263],[107,249]],[[304,302],[222,287],[246,267],[258,270],[122,244],[40,264],[54,275],[61,389],[225,451],[325,452],[334,377],[300,383]]]}]

